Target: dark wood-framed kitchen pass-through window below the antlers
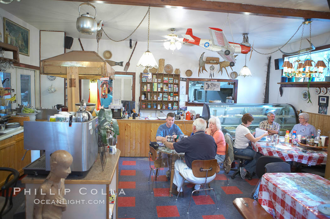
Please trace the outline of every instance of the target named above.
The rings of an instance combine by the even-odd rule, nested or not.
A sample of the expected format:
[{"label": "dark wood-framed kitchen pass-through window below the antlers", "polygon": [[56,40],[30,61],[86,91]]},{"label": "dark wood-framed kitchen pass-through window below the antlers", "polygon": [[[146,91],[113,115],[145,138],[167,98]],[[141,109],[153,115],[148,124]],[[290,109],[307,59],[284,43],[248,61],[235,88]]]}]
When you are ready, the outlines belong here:
[{"label": "dark wood-framed kitchen pass-through window below the antlers", "polygon": [[[197,106],[209,103],[210,100],[226,102],[227,97],[237,100],[237,81],[233,79],[201,79],[187,78],[186,94],[188,95],[188,106]],[[207,82],[207,83],[206,83]]]}]

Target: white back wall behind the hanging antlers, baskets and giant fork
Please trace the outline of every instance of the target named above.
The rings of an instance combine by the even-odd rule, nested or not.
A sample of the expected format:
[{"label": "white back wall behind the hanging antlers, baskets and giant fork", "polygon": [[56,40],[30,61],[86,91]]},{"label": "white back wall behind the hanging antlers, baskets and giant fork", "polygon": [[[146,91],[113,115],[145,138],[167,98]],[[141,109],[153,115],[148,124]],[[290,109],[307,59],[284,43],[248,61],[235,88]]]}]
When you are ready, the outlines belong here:
[{"label": "white back wall behind the hanging antlers, baskets and giant fork", "polygon": [[[106,36],[103,36],[105,39]],[[97,43],[96,40],[89,40],[89,39],[81,39],[82,46],[84,50],[93,50],[97,51]],[[135,42],[133,41],[133,46]],[[74,39],[73,45],[71,50],[82,50],[79,44],[78,39]],[[132,50],[129,48],[129,42],[114,42],[110,40],[101,40],[99,42],[99,54],[102,56],[104,50],[110,50],[113,54],[111,60],[120,62],[123,61],[123,67],[121,66],[114,66],[113,68],[116,71],[123,71],[126,62],[128,61]],[[142,68],[137,68],[137,62],[139,61],[142,54],[147,50],[147,43],[146,42],[138,42],[133,56],[130,60],[130,66],[128,68],[128,72],[136,72],[136,85],[135,85],[135,101],[138,104],[139,96],[140,96],[140,73],[143,71]],[[206,69],[208,72],[200,74],[198,77],[198,67],[199,67],[199,58],[203,52],[204,60],[206,57],[219,57],[219,55],[215,52],[210,52],[203,49],[200,46],[190,46],[190,45],[182,45],[180,50],[175,50],[172,54],[172,50],[166,50],[163,46],[163,43],[156,43],[150,42],[149,43],[149,50],[154,55],[156,61],[160,58],[165,59],[165,65],[171,64],[174,69],[179,68],[181,71],[180,77],[186,77],[185,71],[190,69],[192,70],[193,74],[190,78],[209,78],[210,72],[210,65],[206,65]],[[69,50],[70,51],[70,50]],[[265,50],[260,50],[261,52],[265,52]],[[68,52],[68,50],[67,50]],[[264,90],[263,84],[266,79],[266,67],[265,64],[267,62],[267,56],[260,55],[258,53],[253,53],[251,61],[248,61],[249,55],[247,57],[247,66],[252,72],[252,77],[238,77],[238,103],[261,103],[262,102],[262,93]],[[221,59],[220,59],[221,60]],[[239,72],[241,68],[244,66],[245,62],[245,55],[239,54],[236,57],[236,64],[231,70],[227,67],[228,74],[232,71]],[[226,71],[223,69],[223,73],[221,75],[221,71],[219,74],[217,73],[219,70],[218,66],[215,66],[215,79],[231,79],[227,76]],[[180,86],[186,86],[186,82],[181,81]],[[251,89],[252,88],[252,89]],[[183,102],[184,104],[184,102]],[[181,104],[182,105],[182,104]],[[137,108],[137,106],[136,106]],[[196,113],[202,114],[202,107],[188,107],[188,110],[193,109]],[[171,110],[164,110],[163,112],[167,114]],[[142,110],[144,116],[147,115],[163,115],[159,111],[153,110]]]}]

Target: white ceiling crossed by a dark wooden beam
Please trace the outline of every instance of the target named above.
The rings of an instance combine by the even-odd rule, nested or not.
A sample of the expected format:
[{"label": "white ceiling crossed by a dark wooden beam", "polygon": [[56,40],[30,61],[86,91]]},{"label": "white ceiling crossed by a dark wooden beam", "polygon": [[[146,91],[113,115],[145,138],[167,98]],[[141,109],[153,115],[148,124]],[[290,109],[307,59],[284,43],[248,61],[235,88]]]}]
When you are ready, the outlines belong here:
[{"label": "white ceiling crossed by a dark wooden beam", "polygon": [[[220,0],[219,0],[220,1]],[[223,1],[223,0],[221,0]],[[327,0],[228,0],[226,2],[248,3],[273,7],[308,9],[327,11]],[[96,39],[94,35],[80,34],[76,30],[76,20],[79,16],[79,2],[55,0],[22,0],[3,5],[1,8],[17,16],[39,30],[65,31],[73,38]],[[97,8],[96,19],[104,20],[103,29],[114,40],[126,38],[140,23],[148,7],[93,3]],[[90,6],[83,5],[81,13],[95,13]],[[169,34],[170,28],[176,28],[176,34],[184,34],[187,28],[192,28],[193,34],[200,38],[210,38],[208,27],[222,28],[228,39],[232,41],[226,13],[185,10],[180,8],[156,8],[150,10],[150,41],[163,40],[163,35]],[[242,33],[248,33],[249,42],[254,41],[254,48],[270,49],[283,45],[297,30],[302,20],[275,18],[266,16],[229,14],[229,20],[235,42],[242,42]],[[308,30],[304,38],[309,38]],[[313,21],[312,37],[329,32],[330,21]],[[147,41],[148,16],[139,29],[130,37],[133,41]],[[180,36],[181,37],[181,36]],[[290,42],[299,41],[301,30]],[[103,34],[102,39],[108,38]],[[161,43],[161,42],[160,42]],[[307,45],[306,41],[306,45]]]}]

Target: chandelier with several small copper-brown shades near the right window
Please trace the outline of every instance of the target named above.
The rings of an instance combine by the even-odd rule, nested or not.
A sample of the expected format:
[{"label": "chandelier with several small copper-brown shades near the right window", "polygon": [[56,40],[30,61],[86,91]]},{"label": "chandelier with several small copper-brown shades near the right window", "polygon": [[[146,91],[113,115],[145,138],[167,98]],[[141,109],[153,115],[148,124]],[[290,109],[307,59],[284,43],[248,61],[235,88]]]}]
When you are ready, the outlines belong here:
[{"label": "chandelier with several small copper-brown shades near the right window", "polygon": [[[298,58],[293,63],[290,63],[289,61],[283,62],[283,76],[286,76],[288,78],[292,77],[320,77],[323,72],[323,68],[325,68],[325,63],[323,61],[317,61],[316,63],[312,60],[311,51],[312,51],[312,41],[311,41],[311,31],[312,31],[312,21],[310,19],[305,19],[303,21],[304,25],[310,25],[310,47],[309,47],[309,57],[306,57],[304,62],[300,60],[300,51],[301,51],[301,43],[303,40],[303,34],[304,34],[304,25],[303,30],[301,34],[300,39],[300,47],[299,47],[299,53]],[[314,66],[313,66],[314,63]]]}]

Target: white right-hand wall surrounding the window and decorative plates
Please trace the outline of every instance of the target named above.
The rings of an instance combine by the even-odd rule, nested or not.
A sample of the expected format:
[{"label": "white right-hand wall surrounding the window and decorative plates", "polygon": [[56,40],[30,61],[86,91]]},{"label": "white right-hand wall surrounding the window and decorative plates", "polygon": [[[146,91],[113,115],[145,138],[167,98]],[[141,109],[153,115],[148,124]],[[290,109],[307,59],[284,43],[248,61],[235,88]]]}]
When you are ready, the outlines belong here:
[{"label": "white right-hand wall surrounding the window and decorative plates", "polygon": [[[305,44],[304,44],[305,43]],[[326,34],[322,34],[312,38],[312,43],[315,47],[323,46],[330,44],[330,32]],[[283,47],[283,51],[291,52],[291,51],[298,51],[300,46],[300,41],[294,42],[291,44],[286,45]],[[308,43],[303,41],[302,49],[309,47]],[[270,49],[269,51],[275,51],[277,48]],[[330,96],[329,94],[326,95],[316,95],[315,88],[310,88],[311,100],[312,103],[307,103],[308,100],[303,100],[301,98],[301,92],[303,90],[307,90],[307,88],[283,88],[283,95],[280,96],[279,88],[280,85],[277,84],[281,82],[281,70],[275,70],[274,66],[274,59],[282,58],[282,53],[280,51],[274,53],[272,55],[272,65],[271,65],[271,77],[270,77],[270,96],[269,102],[270,103],[290,103],[292,104],[296,110],[303,110],[306,112],[317,113],[318,112],[318,96]],[[317,60],[314,60],[315,62]],[[330,109],[328,109],[327,115],[330,115]]]}]

